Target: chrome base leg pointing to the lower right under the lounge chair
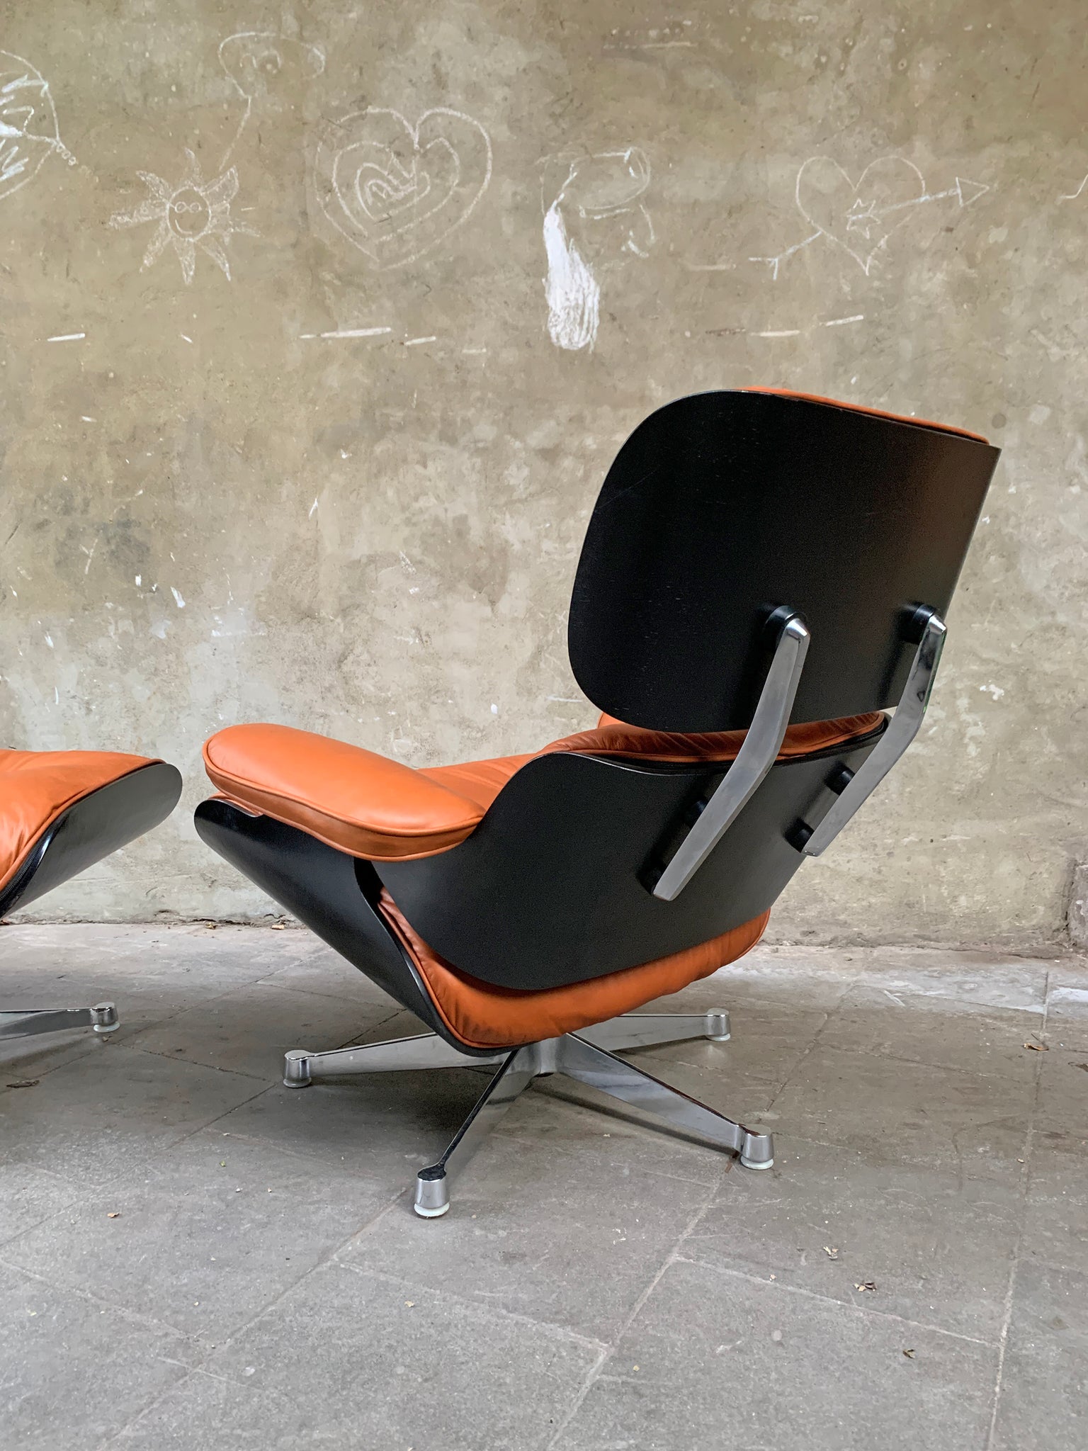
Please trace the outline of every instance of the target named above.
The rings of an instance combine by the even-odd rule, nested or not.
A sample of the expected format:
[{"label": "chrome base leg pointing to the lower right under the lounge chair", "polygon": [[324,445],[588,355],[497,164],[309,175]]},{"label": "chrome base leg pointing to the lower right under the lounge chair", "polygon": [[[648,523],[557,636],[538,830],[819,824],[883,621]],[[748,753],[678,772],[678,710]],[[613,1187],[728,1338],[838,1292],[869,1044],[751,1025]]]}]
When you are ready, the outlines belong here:
[{"label": "chrome base leg pointing to the lower right under the lounge chair", "polygon": [[769,1170],[775,1162],[775,1145],[769,1133],[753,1133],[634,1064],[614,1058],[588,1042],[582,1033],[567,1033],[559,1040],[556,1066],[569,1078],[599,1088],[680,1129],[701,1133],[725,1149],[735,1149],[744,1168]]}]

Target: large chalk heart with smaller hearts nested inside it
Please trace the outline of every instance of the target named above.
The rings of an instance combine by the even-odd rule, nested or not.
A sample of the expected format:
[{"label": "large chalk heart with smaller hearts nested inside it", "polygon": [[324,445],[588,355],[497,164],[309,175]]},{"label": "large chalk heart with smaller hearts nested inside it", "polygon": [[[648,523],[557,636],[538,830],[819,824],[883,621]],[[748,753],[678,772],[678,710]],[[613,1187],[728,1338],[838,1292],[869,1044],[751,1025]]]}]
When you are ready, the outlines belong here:
[{"label": "large chalk heart with smaller hearts nested inside it", "polygon": [[415,123],[371,106],[329,126],[315,190],[325,216],[380,270],[425,257],[471,216],[492,177],[492,144],[460,110]]}]

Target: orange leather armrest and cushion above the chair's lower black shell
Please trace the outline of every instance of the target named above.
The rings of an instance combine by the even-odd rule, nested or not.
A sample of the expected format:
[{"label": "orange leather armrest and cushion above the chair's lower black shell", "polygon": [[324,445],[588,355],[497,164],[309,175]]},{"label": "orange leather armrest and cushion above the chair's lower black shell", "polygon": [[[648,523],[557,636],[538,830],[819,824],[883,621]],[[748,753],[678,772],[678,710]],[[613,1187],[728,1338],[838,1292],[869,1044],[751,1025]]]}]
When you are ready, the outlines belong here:
[{"label": "orange leather armrest and cushion above the chair's lower black shell", "polygon": [[[807,755],[867,734],[881,712],[791,726],[780,757]],[[676,736],[624,726],[608,715],[596,730],[544,750],[644,760],[733,760],[744,731]],[[483,820],[511,776],[532,756],[502,756],[413,770],[361,746],[290,726],[231,726],[205,744],[218,789],[248,811],[300,827],[328,846],[368,860],[413,860],[448,852]]]}]

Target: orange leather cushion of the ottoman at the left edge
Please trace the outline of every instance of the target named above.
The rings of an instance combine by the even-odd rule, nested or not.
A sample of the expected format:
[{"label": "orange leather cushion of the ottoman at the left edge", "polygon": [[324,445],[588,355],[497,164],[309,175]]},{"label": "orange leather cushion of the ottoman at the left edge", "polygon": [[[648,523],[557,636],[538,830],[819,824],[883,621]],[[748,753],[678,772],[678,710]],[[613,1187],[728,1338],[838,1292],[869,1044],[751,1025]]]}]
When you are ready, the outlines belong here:
[{"label": "orange leather cushion of the ottoman at the left edge", "polygon": [[151,765],[113,750],[0,750],[0,888],[68,807]]}]

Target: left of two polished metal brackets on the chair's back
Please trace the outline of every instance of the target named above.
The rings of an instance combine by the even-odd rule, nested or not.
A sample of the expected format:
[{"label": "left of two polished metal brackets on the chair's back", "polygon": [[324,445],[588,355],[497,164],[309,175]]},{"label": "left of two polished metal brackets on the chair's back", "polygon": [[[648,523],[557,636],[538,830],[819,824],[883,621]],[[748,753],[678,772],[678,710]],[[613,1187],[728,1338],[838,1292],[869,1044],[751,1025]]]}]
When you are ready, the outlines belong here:
[{"label": "left of two polished metal brackets on the chair's back", "polygon": [[786,618],[744,744],[657,879],[653,895],[662,901],[679,897],[737,820],[782,749],[809,641],[801,615],[783,614]]}]

